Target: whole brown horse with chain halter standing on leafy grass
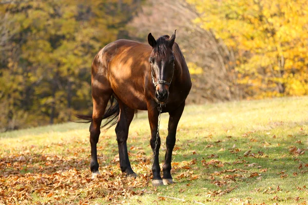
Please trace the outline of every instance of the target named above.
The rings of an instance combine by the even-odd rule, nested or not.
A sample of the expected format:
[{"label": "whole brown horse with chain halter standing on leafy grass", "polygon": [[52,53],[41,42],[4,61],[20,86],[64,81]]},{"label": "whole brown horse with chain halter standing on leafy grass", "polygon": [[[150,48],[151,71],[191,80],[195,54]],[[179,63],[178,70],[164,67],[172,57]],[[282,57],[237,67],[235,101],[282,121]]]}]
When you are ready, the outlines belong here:
[{"label": "whole brown horse with chain halter standing on leafy grass", "polygon": [[[152,173],[154,186],[172,183],[171,155],[176,142],[178,122],[185,107],[185,99],[191,88],[185,58],[175,43],[176,31],[171,37],[163,35],[157,40],[149,33],[149,45],[120,39],[105,46],[92,62],[92,116],[77,117],[91,122],[90,143],[92,176],[99,174],[97,143],[101,122],[105,125],[117,123],[115,133],[119,147],[120,167],[127,176],[136,177],[130,167],[127,154],[127,137],[130,122],[136,110],[147,110],[151,129],[150,145],[155,149],[158,127],[158,106],[169,113],[168,136],[166,138],[163,178],[160,176],[158,137]],[[114,102],[114,98],[117,100]],[[106,110],[108,101],[110,107]],[[105,112],[106,110],[106,112]],[[110,127],[111,127],[110,126]]]}]

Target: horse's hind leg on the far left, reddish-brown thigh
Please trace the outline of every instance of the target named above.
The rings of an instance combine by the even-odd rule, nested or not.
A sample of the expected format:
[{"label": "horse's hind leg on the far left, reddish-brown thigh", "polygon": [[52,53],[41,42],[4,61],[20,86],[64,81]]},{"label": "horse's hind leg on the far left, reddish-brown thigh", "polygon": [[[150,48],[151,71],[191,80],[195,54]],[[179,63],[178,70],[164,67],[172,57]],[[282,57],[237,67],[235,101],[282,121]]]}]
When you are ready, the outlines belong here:
[{"label": "horse's hind leg on the far left, reddish-brown thigh", "polygon": [[100,174],[98,155],[97,155],[97,144],[101,133],[101,123],[103,115],[105,113],[108,100],[111,96],[111,91],[103,92],[102,90],[99,90],[100,94],[95,95],[93,94],[93,90],[94,88],[92,87],[93,114],[92,114],[92,122],[90,125],[90,144],[91,144],[90,169],[92,172],[92,178],[95,177],[95,175]]}]

